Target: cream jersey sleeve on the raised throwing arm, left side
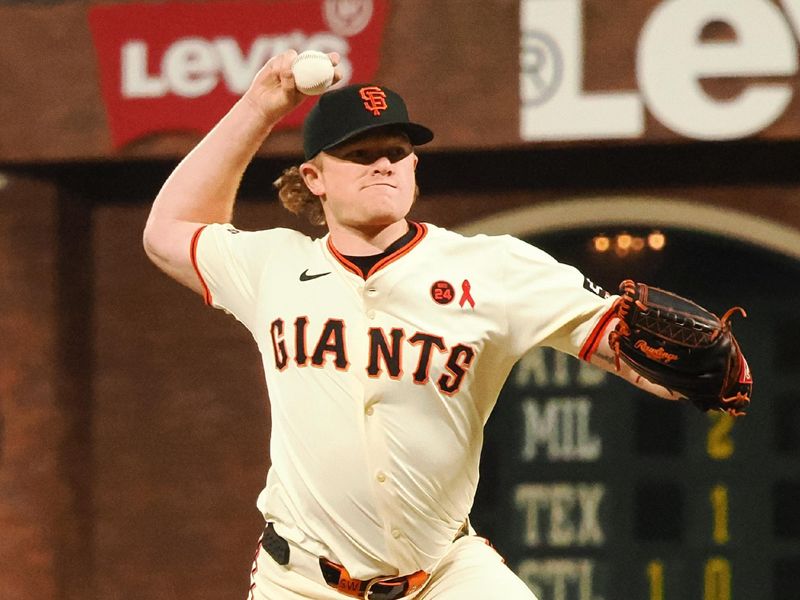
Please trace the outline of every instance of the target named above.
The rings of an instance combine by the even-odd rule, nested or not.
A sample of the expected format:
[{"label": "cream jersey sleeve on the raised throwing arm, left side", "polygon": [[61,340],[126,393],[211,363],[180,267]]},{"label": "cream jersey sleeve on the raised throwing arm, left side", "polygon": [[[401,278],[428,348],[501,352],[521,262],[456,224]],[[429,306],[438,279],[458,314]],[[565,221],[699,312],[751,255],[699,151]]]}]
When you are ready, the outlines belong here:
[{"label": "cream jersey sleeve on the raised throwing arm, left side", "polygon": [[201,227],[192,240],[192,263],[206,304],[231,313],[253,330],[261,281],[287,237],[286,229],[242,231],[225,223]]}]

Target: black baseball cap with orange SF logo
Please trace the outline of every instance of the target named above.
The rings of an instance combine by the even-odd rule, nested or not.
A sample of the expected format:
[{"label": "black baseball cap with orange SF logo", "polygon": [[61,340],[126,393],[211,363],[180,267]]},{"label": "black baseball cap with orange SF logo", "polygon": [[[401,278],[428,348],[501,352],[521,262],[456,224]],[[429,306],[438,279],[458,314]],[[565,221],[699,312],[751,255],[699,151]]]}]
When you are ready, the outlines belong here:
[{"label": "black baseball cap with orange SF logo", "polygon": [[397,92],[363,83],[334,89],[322,94],[306,117],[303,153],[309,160],[355,135],[387,125],[404,131],[414,146],[433,139],[430,129],[408,120],[406,103]]}]

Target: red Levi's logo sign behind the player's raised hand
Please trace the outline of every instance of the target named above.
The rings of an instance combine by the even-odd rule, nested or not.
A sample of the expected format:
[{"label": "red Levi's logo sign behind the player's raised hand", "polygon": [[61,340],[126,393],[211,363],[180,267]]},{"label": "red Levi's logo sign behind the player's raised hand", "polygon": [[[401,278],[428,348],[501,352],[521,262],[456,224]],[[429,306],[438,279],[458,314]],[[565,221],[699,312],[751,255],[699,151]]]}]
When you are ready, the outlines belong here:
[{"label": "red Levi's logo sign behind the player's raised hand", "polygon": [[[338,52],[342,85],[378,69],[389,0],[158,2],[89,9],[108,114],[119,148],[163,132],[204,134],[272,56]],[[276,128],[299,127],[307,101]]]}]

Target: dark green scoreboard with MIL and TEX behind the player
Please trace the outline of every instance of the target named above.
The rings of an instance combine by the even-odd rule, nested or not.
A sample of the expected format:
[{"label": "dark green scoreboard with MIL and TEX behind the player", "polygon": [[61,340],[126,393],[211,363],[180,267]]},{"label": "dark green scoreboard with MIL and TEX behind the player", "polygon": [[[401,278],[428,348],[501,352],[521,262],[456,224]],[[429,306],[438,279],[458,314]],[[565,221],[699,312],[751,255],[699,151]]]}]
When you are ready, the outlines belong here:
[{"label": "dark green scoreboard with MIL and TEX behind the player", "polygon": [[[713,265],[715,241],[690,241]],[[800,598],[800,271],[737,251],[761,272],[735,290],[712,273],[698,295],[679,275],[620,268],[712,310],[749,309],[734,322],[755,377],[746,417],[650,397],[548,348],[512,371],[473,518],[540,600]],[[559,258],[592,276],[580,254]],[[765,273],[782,283],[759,287]]]}]

